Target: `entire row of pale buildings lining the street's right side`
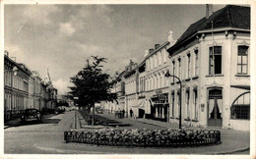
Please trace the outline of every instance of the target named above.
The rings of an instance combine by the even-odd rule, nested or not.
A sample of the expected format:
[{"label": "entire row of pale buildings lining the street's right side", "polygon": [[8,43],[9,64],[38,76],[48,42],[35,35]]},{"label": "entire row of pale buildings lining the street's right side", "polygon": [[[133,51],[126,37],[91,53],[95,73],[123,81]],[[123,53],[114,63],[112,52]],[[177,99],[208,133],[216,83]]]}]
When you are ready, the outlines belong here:
[{"label": "entire row of pale buildings lining the street's right side", "polygon": [[181,116],[183,126],[249,131],[249,48],[250,8],[227,5],[213,13],[207,5],[206,17],[177,40],[170,31],[140,64],[131,61],[115,77],[118,102],[104,108],[125,110],[126,117],[132,110],[169,123]]}]

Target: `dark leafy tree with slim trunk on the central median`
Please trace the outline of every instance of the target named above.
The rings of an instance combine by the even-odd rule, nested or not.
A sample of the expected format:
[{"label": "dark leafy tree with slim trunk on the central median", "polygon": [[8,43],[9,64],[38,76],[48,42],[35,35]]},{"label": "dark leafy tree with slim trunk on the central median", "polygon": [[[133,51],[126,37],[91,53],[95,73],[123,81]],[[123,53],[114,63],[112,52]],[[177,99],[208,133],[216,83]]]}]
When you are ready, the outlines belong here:
[{"label": "dark leafy tree with slim trunk on the central median", "polygon": [[95,103],[101,101],[116,101],[116,93],[111,93],[110,88],[113,85],[109,82],[110,76],[102,72],[101,63],[106,63],[105,58],[92,56],[92,63],[90,59],[87,60],[86,66],[82,71],[71,78],[74,86],[70,86],[71,91],[69,97],[77,97],[75,103],[79,106],[85,107],[88,110],[93,108],[92,125],[95,123]]}]

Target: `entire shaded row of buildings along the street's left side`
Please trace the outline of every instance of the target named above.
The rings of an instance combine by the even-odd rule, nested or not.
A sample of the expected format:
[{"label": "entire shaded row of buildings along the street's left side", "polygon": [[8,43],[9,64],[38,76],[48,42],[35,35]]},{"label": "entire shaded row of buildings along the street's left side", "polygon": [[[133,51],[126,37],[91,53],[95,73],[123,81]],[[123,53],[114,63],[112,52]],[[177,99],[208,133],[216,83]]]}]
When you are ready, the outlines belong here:
[{"label": "entire shaded row of buildings along the street's left side", "polygon": [[27,108],[51,112],[57,103],[57,89],[50,80],[42,80],[39,74],[25,64],[17,63],[4,55],[4,119],[20,117]]}]

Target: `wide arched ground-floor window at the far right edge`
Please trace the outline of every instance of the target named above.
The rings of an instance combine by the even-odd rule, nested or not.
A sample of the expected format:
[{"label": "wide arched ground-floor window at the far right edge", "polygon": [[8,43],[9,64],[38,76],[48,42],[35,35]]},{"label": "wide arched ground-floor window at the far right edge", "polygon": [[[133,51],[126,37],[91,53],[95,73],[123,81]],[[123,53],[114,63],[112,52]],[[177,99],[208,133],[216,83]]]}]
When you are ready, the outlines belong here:
[{"label": "wide arched ground-floor window at the far right edge", "polygon": [[250,119],[250,92],[239,95],[231,106],[231,119]]}]

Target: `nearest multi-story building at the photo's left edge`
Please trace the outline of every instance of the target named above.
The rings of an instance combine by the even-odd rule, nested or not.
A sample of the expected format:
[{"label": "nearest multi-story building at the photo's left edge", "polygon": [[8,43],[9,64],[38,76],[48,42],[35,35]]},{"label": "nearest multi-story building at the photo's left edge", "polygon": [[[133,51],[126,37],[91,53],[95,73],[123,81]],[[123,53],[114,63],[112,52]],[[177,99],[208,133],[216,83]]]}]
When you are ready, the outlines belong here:
[{"label": "nearest multi-story building at the photo's left edge", "polygon": [[5,120],[17,118],[29,107],[29,79],[32,73],[17,64],[6,52],[4,56]]}]

